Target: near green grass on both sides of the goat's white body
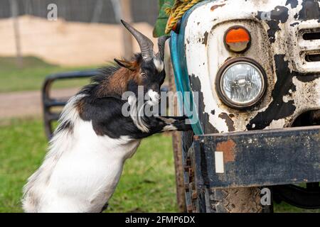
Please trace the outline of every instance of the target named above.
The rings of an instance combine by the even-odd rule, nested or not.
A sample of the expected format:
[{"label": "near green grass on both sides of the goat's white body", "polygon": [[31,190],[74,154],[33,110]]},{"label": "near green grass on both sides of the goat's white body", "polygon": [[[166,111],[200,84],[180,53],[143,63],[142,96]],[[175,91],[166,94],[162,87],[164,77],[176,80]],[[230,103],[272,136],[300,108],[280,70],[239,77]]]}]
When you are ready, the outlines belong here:
[{"label": "near green grass on both sides of the goat's white body", "polygon": [[[41,120],[0,121],[0,212],[22,211],[21,189],[41,164],[46,145]],[[107,212],[176,212],[175,191],[171,137],[154,135],[124,165]],[[274,211],[307,212],[284,203]]]}]

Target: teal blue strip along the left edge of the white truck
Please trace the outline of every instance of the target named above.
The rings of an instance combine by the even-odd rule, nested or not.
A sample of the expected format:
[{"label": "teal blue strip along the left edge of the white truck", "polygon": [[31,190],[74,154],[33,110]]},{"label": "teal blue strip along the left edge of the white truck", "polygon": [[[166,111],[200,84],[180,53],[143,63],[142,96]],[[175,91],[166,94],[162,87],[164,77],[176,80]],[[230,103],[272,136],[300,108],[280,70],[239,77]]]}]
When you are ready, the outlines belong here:
[{"label": "teal blue strip along the left edge of the white truck", "polygon": [[[201,127],[200,121],[198,121],[198,112],[196,116],[193,114],[193,109],[198,111],[193,100],[193,95],[191,92],[190,81],[188,77],[188,70],[186,65],[186,52],[184,48],[184,28],[186,27],[186,22],[188,21],[188,16],[195,9],[194,6],[189,11],[187,11],[183,18],[181,19],[181,26],[179,33],[171,32],[170,40],[170,50],[171,50],[171,61],[174,66],[174,77],[176,82],[176,91],[181,92],[181,94],[189,94],[189,99],[186,99],[185,95],[178,95],[178,104],[180,107],[181,113],[185,113],[186,116],[193,117],[196,119],[196,124],[192,125],[193,132],[196,135],[203,135],[203,128]],[[186,93],[188,92],[188,93]]]}]

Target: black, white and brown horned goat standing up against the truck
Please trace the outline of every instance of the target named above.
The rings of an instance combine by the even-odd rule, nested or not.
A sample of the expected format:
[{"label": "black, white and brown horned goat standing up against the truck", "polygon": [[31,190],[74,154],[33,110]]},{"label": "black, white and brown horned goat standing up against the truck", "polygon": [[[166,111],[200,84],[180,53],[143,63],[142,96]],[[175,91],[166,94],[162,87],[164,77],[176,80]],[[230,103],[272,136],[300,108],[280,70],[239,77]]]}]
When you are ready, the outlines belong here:
[{"label": "black, white and brown horned goat standing up against the truck", "polygon": [[164,82],[164,42],[159,52],[153,43],[128,23],[141,53],[132,61],[115,60],[117,67],[105,68],[103,76],[73,96],[63,109],[48,153],[41,167],[23,188],[26,212],[100,212],[112,196],[124,161],[132,157],[142,138],[163,131],[186,131],[183,117],[139,116],[137,99],[129,96],[130,116],[122,114],[124,92],[137,94],[138,86],[159,104]]}]

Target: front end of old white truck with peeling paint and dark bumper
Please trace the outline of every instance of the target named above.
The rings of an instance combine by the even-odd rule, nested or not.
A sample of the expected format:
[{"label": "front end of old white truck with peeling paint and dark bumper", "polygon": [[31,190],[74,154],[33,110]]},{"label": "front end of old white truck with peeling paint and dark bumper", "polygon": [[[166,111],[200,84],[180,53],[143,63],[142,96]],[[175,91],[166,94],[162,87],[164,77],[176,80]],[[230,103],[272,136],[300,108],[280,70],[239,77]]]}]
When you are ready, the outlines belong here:
[{"label": "front end of old white truck with peeling paint and dark bumper", "polygon": [[262,188],[319,208],[320,2],[202,1],[170,48],[197,120],[183,133],[188,211],[270,211]]}]

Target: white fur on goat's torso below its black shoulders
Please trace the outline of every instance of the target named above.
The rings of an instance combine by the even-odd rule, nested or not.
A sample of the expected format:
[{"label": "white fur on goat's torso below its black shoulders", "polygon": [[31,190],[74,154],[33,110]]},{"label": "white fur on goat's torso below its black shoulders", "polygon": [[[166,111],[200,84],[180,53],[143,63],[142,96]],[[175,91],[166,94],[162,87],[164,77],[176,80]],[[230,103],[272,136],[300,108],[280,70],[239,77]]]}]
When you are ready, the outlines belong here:
[{"label": "white fur on goat's torso below its black shoulders", "polygon": [[73,133],[58,131],[39,169],[23,188],[26,212],[100,212],[112,196],[124,161],[134,155],[140,140],[98,136],[91,121],[82,121],[74,96],[60,123],[70,121]]}]

